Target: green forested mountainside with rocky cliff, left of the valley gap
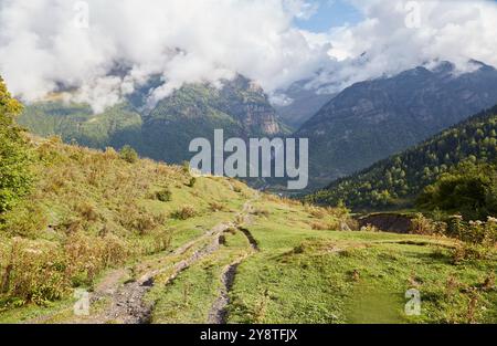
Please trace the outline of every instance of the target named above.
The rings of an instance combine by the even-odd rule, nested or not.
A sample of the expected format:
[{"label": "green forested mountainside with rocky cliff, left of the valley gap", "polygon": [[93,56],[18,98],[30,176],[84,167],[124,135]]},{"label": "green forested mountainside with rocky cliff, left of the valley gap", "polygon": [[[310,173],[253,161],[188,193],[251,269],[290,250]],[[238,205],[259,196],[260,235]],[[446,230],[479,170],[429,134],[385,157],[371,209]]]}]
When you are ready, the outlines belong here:
[{"label": "green forested mountainside with rocky cliff, left of the valley gap", "polygon": [[41,136],[60,135],[92,148],[131,145],[140,155],[168,162],[190,158],[188,147],[197,137],[211,138],[222,128],[226,136],[274,136],[284,132],[264,91],[243,76],[216,88],[184,85],[145,109],[150,85],[123,104],[94,115],[88,105],[43,102],[29,105],[19,123]]}]

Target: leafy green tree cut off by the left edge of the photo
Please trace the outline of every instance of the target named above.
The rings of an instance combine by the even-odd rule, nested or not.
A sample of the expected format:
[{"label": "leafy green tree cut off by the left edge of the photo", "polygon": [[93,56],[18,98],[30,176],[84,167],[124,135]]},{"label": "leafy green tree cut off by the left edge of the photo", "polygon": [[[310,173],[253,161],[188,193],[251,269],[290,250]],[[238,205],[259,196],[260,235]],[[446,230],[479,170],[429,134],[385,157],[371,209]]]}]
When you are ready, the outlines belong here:
[{"label": "leafy green tree cut off by the left edge of the photo", "polygon": [[28,144],[14,123],[21,111],[0,77],[0,213],[12,209],[31,187]]}]

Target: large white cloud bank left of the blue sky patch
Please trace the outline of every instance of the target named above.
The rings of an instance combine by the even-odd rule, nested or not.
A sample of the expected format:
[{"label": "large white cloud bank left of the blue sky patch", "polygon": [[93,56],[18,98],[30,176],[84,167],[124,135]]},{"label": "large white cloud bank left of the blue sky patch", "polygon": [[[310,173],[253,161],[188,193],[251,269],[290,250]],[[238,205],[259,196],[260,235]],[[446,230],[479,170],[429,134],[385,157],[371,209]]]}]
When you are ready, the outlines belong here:
[{"label": "large white cloud bank left of the blue sky patch", "polygon": [[[63,84],[101,111],[154,74],[167,83],[152,101],[235,72],[272,90],[326,59],[292,25],[313,10],[304,0],[87,0],[88,29],[75,25],[75,3],[0,0],[0,73],[14,94],[33,101]],[[117,66],[126,75],[109,77]]]}]

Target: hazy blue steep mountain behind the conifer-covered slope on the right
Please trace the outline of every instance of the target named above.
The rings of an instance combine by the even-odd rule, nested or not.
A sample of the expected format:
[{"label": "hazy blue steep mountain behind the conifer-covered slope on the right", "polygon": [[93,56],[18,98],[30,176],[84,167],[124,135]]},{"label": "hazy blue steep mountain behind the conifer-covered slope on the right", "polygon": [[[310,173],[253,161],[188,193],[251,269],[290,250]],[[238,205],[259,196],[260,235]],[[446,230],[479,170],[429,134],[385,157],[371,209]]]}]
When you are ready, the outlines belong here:
[{"label": "hazy blue steep mountain behind the conifer-covered slope on the right", "polygon": [[363,169],[497,103],[497,71],[474,62],[457,74],[444,62],[357,83],[297,132],[310,138],[315,185]]}]

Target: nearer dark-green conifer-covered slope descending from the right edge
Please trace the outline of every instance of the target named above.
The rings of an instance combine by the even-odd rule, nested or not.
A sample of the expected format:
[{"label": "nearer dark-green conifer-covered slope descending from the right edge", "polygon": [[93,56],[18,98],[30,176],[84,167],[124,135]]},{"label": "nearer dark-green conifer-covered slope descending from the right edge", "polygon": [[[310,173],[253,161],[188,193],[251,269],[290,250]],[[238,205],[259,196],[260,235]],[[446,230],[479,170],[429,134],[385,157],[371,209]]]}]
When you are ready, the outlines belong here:
[{"label": "nearer dark-green conifer-covered slope descending from the right edge", "polygon": [[497,106],[412,149],[339,179],[308,199],[325,205],[342,200],[355,209],[394,206],[416,196],[464,159],[497,159]]}]

